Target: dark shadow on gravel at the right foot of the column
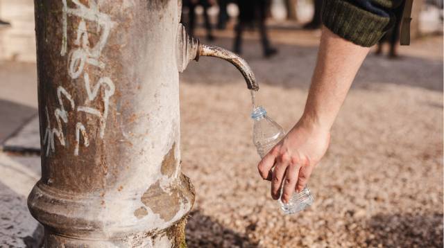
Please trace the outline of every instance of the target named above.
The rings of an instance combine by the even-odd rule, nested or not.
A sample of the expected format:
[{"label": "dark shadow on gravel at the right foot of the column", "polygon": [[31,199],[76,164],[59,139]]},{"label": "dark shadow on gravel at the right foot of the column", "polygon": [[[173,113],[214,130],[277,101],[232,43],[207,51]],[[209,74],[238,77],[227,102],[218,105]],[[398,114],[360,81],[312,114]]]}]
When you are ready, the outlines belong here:
[{"label": "dark shadow on gravel at the right foot of the column", "polygon": [[223,227],[200,210],[189,213],[186,227],[187,245],[194,247],[258,247],[247,236]]}]

